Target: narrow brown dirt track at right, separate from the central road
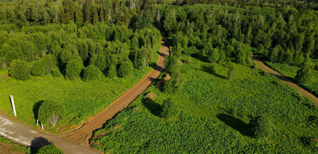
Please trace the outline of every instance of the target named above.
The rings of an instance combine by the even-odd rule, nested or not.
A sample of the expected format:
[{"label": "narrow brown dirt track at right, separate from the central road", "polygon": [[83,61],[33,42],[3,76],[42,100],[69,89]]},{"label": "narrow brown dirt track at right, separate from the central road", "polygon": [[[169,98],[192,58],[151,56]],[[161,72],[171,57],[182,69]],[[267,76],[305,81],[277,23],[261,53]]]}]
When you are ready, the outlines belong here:
[{"label": "narrow brown dirt track at right, separate from the central road", "polygon": [[284,83],[286,83],[289,87],[295,89],[296,91],[298,91],[300,94],[306,96],[307,98],[309,98],[311,101],[313,101],[316,105],[318,105],[318,98],[316,96],[314,96],[313,94],[309,93],[308,91],[306,91],[305,89],[299,87],[297,84],[295,84],[294,82],[290,81],[289,79],[287,79],[286,76],[274,71],[273,69],[267,67],[263,62],[261,62],[256,56],[252,56],[252,60],[259,66],[259,68],[261,68],[262,70],[264,70],[265,72],[269,73],[269,74],[273,74],[275,75],[278,79],[280,79],[281,81],[283,81]]}]

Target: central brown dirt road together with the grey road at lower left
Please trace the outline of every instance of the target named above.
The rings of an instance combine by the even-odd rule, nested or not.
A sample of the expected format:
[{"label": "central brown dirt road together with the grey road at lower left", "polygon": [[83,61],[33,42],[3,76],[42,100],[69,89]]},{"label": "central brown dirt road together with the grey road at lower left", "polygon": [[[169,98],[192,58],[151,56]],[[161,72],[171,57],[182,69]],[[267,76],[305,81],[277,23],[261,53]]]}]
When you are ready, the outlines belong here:
[{"label": "central brown dirt road together with the grey road at lower left", "polygon": [[88,139],[92,137],[93,131],[102,128],[104,123],[113,118],[118,112],[126,108],[162,73],[163,60],[165,56],[169,56],[169,47],[163,40],[161,40],[161,43],[162,46],[160,49],[157,66],[125,94],[117,98],[107,110],[101,111],[93,117],[89,117],[87,120],[88,123],[83,125],[81,128],[67,134],[52,136],[34,131],[33,129],[24,125],[13,122],[0,114],[0,135],[5,136],[5,138],[11,139],[16,143],[20,143],[25,146],[31,146],[35,149],[38,149],[39,145],[43,145],[43,143],[50,142],[59,146],[59,148],[63,149],[64,153],[66,154],[97,153],[92,149],[90,150],[90,146],[88,145]]}]

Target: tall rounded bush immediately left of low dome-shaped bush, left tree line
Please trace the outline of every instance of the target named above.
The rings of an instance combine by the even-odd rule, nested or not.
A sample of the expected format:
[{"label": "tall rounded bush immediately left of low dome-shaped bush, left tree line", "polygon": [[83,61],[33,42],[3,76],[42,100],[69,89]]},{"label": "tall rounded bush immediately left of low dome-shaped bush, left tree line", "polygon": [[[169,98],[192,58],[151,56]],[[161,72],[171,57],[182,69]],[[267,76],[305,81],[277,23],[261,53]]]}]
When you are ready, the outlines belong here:
[{"label": "tall rounded bush immediately left of low dome-shaped bush, left tree line", "polygon": [[66,77],[74,79],[79,77],[80,72],[83,69],[83,61],[80,60],[69,60],[66,64]]}]

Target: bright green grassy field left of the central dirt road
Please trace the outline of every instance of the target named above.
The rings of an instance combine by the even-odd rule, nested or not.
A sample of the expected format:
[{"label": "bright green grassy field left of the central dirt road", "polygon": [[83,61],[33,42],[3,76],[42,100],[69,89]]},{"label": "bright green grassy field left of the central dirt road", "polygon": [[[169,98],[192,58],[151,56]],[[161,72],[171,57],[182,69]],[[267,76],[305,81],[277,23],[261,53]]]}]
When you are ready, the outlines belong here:
[{"label": "bright green grassy field left of the central dirt road", "polygon": [[[158,60],[156,53],[153,60]],[[67,115],[58,127],[45,126],[47,131],[59,132],[62,128],[74,123],[79,125],[86,120],[86,116],[95,115],[107,107],[115,98],[120,96],[142,79],[151,67],[134,73],[127,78],[103,77],[102,80],[84,82],[65,80],[47,76],[31,76],[28,81],[17,81],[12,78],[0,79],[0,110],[13,116],[10,94],[13,95],[17,111],[17,119],[35,127],[38,118],[39,105],[46,100],[60,101],[66,106]],[[62,129],[65,131],[67,129]]]}]

